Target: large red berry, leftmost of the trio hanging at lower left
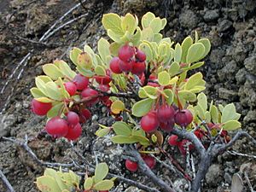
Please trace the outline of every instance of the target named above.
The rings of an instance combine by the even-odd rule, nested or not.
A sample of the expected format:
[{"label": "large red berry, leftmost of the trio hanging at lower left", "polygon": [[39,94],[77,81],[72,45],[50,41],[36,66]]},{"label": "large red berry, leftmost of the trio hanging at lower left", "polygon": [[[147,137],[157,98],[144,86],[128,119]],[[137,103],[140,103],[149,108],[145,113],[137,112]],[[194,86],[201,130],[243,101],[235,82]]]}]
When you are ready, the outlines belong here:
[{"label": "large red berry, leftmost of the trio hanging at lower left", "polygon": [[60,117],[49,119],[45,125],[45,130],[52,137],[65,137],[68,131],[67,121]]}]

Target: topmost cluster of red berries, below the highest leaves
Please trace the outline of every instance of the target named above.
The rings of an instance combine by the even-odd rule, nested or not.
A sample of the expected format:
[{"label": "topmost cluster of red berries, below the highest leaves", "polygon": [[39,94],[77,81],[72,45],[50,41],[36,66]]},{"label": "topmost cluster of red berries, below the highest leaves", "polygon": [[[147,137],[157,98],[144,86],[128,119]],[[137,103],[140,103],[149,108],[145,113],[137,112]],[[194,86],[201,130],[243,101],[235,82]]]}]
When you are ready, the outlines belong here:
[{"label": "topmost cluster of red berries, below the highest leaves", "polygon": [[119,49],[119,56],[110,61],[109,67],[113,73],[131,72],[140,75],[146,69],[145,61],[146,55],[142,50],[125,44]]}]

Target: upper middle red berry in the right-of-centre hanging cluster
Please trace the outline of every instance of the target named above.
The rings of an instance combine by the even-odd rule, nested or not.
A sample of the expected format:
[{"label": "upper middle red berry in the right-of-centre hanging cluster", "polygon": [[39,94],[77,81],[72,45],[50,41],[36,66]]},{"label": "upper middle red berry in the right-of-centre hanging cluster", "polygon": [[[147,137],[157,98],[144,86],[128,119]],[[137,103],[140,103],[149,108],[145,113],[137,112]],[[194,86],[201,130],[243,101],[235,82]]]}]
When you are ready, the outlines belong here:
[{"label": "upper middle red berry in the right-of-centre hanging cluster", "polygon": [[175,111],[172,106],[162,105],[158,108],[156,114],[160,122],[166,122],[173,119]]}]

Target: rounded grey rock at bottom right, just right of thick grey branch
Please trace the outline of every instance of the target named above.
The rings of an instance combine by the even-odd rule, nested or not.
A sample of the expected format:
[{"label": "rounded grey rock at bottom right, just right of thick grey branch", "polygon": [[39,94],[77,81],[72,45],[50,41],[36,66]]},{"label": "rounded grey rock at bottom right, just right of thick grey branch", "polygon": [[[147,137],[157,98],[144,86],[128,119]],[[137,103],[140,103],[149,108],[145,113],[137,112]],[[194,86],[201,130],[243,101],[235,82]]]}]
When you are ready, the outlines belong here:
[{"label": "rounded grey rock at bottom right, just right of thick grey branch", "polygon": [[209,185],[218,186],[218,184],[223,180],[223,171],[221,166],[218,164],[212,164],[207,172],[206,180]]}]

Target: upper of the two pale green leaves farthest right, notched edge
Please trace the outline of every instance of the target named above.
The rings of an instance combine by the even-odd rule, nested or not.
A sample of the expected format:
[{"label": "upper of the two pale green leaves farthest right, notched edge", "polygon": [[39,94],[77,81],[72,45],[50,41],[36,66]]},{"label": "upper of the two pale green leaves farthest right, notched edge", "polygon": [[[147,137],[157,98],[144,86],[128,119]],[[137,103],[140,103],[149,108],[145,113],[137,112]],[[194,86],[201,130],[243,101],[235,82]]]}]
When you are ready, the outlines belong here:
[{"label": "upper of the two pale green leaves farthest right, notched edge", "polygon": [[226,105],[222,111],[221,123],[225,123],[229,120],[238,120],[241,114],[236,113],[236,107],[234,103]]}]

